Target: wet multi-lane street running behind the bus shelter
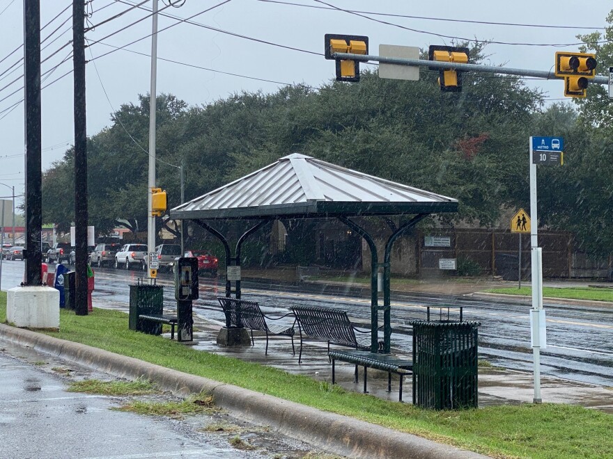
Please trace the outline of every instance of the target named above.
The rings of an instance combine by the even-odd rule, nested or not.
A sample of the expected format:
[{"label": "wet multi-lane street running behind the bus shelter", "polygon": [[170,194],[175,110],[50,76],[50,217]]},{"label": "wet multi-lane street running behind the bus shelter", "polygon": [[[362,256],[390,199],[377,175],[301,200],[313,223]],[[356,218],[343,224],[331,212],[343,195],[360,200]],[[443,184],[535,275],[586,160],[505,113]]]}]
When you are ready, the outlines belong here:
[{"label": "wet multi-lane street running behind the bus shelter", "polygon": [[[21,270],[21,271],[20,271]],[[116,307],[129,304],[129,284],[137,282],[139,271],[96,271],[96,306]],[[20,282],[21,261],[6,261],[2,289]],[[164,285],[164,307],[175,305],[172,277],[160,273],[158,284]],[[194,313],[220,323],[224,316],[216,297],[224,295],[224,282],[201,277],[201,299],[194,302]],[[329,289],[328,289],[329,290]],[[370,298],[351,296],[349,291],[296,291],[293,287],[263,288],[242,282],[244,298],[256,300],[265,313],[286,312],[293,305],[337,307],[349,312],[352,321],[363,328],[370,323]],[[437,296],[393,296],[391,304],[392,347],[403,352],[412,346],[412,329],[408,322],[426,319],[426,305],[462,305],[464,319],[481,322],[479,354],[492,364],[509,369],[531,371],[529,309],[527,304],[497,303],[468,298]],[[541,373],[570,380],[613,386],[613,310],[606,307],[545,305],[548,348],[541,351]],[[452,317],[457,318],[457,313]]]}]

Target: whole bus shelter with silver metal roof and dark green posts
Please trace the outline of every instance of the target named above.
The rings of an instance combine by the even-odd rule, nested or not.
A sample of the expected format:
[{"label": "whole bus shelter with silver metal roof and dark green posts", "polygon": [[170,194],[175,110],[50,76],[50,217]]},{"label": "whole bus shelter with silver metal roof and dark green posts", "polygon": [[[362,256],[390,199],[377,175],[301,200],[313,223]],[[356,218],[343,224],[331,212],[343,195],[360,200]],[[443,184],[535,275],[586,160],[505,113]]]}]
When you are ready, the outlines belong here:
[{"label": "whole bus shelter with silver metal roof and dark green posts", "polygon": [[[226,252],[226,296],[232,295],[228,273],[240,266],[242,243],[250,234],[279,218],[338,218],[362,236],[371,252],[371,351],[378,351],[379,312],[383,314],[383,352],[389,353],[391,336],[390,260],[394,241],[430,214],[458,211],[458,201],[447,196],[390,182],[336,166],[304,154],[290,154],[205,195],[171,209],[170,218],[192,220],[216,236]],[[382,263],[371,234],[353,218],[410,216],[394,229],[385,243]],[[235,245],[234,256],[216,221],[251,220],[254,225]],[[383,305],[378,300],[378,271],[383,270]],[[238,268],[240,270],[240,268]],[[233,276],[229,276],[233,277]],[[235,279],[240,298],[240,277]]]}]

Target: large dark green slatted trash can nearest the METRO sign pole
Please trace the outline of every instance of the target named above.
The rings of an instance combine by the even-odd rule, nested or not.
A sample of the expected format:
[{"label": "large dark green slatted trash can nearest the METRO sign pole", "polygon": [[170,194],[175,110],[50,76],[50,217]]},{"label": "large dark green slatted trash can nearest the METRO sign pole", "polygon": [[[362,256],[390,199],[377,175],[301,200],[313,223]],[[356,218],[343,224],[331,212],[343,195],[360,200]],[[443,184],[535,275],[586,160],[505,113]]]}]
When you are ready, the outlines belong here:
[{"label": "large dark green slatted trash can nearest the METRO sign pole", "polygon": [[413,404],[477,408],[479,322],[412,321]]}]

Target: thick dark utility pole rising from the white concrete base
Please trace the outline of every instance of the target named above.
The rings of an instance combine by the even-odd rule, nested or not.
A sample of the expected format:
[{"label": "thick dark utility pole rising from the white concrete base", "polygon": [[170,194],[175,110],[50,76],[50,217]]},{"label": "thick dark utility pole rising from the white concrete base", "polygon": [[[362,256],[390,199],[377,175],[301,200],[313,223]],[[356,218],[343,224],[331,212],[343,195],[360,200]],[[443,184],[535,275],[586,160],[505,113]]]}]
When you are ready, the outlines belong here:
[{"label": "thick dark utility pole rising from the white concrete base", "polygon": [[26,134],[25,285],[42,285],[42,165],[40,159],[40,0],[24,0],[24,99]]}]

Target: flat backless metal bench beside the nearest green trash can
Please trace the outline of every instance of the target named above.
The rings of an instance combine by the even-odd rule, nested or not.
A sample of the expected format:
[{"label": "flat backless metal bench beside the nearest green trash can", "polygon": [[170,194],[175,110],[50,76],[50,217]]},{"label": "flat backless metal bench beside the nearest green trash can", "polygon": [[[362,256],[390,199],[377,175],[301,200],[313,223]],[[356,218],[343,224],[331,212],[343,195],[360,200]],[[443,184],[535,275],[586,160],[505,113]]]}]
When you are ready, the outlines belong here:
[{"label": "flat backless metal bench beside the nearest green trash can", "polygon": [[413,362],[411,360],[403,360],[394,355],[375,354],[367,351],[329,351],[330,359],[332,359],[332,384],[334,384],[334,362],[348,362],[355,364],[354,383],[357,383],[357,367],[364,367],[364,394],[368,394],[366,390],[366,369],[372,368],[375,370],[387,371],[387,392],[391,392],[391,373],[397,374],[400,378],[398,386],[398,401],[402,402],[402,386],[403,378],[413,372]]}]

